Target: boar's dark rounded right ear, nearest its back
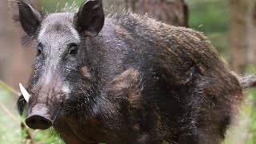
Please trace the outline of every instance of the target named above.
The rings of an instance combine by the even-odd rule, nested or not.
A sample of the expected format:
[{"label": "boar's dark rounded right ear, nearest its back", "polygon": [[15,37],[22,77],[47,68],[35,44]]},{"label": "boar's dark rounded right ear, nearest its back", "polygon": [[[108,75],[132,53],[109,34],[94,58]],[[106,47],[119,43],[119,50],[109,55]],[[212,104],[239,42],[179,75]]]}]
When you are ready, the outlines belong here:
[{"label": "boar's dark rounded right ear, nearest its back", "polygon": [[104,24],[102,0],[88,0],[82,4],[75,15],[75,26],[85,37],[96,36]]}]

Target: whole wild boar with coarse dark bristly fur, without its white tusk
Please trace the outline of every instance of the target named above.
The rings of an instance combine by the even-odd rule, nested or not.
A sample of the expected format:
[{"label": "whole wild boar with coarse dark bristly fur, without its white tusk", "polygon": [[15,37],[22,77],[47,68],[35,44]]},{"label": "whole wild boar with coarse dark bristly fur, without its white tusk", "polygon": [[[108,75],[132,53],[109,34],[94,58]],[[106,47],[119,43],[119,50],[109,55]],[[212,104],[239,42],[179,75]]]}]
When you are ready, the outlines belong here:
[{"label": "whole wild boar with coarse dark bristly fur, without its white tusk", "polygon": [[105,18],[100,0],[46,15],[10,3],[22,43],[38,51],[18,110],[66,143],[220,143],[256,84],[195,30],[133,13]]}]

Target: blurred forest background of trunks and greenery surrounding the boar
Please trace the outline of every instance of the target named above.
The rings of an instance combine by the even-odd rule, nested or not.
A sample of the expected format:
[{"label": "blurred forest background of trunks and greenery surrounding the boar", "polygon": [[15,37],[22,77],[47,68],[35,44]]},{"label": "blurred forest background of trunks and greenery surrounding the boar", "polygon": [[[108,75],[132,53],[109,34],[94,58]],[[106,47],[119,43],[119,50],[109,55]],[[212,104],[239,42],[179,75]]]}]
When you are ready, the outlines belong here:
[{"label": "blurred forest background of trunks and greenery surrounding the boar", "polygon": [[[66,5],[66,2],[69,4]],[[76,0],[80,6],[83,0]],[[103,0],[106,14],[131,10],[158,21],[186,26],[206,34],[219,54],[238,74],[256,71],[255,0]],[[38,0],[44,13],[74,3],[65,0]],[[34,51],[20,45],[18,29],[10,19],[7,0],[0,1],[0,144],[62,143],[53,130],[27,130],[18,116],[15,102],[18,83],[26,83]],[[17,90],[17,91],[16,91]],[[226,144],[256,143],[256,90],[246,94],[242,111],[228,131]],[[48,138],[50,136],[50,138]]]}]

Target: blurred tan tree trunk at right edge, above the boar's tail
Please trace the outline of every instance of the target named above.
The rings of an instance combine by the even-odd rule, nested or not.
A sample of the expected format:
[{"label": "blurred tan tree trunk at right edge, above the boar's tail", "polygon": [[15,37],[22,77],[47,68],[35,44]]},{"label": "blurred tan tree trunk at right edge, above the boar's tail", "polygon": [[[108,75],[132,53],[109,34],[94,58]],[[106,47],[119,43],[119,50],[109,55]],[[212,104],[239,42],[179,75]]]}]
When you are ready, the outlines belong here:
[{"label": "blurred tan tree trunk at right edge, above the boar's tail", "polygon": [[238,73],[256,66],[255,17],[255,0],[230,0],[230,64]]}]

